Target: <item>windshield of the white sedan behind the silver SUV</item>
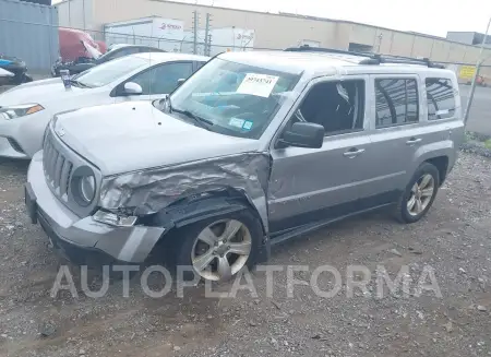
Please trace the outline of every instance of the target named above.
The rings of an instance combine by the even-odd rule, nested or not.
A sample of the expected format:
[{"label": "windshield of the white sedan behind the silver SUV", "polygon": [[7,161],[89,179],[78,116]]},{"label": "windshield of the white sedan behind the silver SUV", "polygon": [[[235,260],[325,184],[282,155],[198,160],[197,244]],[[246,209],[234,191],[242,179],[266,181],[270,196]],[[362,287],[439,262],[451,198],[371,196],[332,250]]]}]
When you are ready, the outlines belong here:
[{"label": "windshield of the white sedan behind the silver SUV", "polygon": [[148,59],[133,56],[121,57],[75,75],[73,80],[88,87],[98,87],[107,85],[122,75],[146,66],[148,66]]}]

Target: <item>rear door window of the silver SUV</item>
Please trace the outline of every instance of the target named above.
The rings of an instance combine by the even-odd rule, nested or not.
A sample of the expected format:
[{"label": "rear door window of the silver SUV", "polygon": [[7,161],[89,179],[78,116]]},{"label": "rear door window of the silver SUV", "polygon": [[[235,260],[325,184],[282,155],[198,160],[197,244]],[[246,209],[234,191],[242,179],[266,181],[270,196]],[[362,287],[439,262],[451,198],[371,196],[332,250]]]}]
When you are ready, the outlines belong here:
[{"label": "rear door window of the silver SUV", "polygon": [[418,84],[416,80],[375,80],[375,128],[418,122]]}]

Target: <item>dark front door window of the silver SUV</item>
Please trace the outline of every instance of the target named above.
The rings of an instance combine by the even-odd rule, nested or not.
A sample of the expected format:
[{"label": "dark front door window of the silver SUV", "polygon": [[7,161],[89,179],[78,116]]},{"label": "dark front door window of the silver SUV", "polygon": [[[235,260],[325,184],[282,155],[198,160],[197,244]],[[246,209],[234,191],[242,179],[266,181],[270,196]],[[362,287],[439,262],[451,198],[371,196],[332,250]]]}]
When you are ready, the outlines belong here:
[{"label": "dark front door window of the silver SUV", "polygon": [[323,82],[307,94],[294,121],[324,127],[325,135],[363,130],[364,81]]}]

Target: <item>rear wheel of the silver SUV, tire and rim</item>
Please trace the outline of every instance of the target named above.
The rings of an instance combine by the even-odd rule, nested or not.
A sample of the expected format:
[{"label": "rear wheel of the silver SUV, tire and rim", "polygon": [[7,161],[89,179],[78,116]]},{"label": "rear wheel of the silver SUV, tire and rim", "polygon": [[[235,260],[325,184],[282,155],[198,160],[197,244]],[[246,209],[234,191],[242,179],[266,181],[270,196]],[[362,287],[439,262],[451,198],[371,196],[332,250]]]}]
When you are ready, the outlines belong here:
[{"label": "rear wheel of the silver SUV, tire and rim", "polygon": [[415,223],[430,210],[440,187],[438,168],[422,164],[412,176],[396,209],[396,218],[403,223]]}]

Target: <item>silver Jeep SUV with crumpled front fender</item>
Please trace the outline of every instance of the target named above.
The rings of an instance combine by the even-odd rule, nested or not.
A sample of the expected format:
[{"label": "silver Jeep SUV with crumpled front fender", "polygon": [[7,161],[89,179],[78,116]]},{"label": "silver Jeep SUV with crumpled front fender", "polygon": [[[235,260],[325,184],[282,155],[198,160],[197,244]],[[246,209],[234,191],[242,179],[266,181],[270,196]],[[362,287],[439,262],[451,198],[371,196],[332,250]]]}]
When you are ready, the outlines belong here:
[{"label": "silver Jeep SUV with crumpled front fender", "polygon": [[463,140],[455,73],[295,50],[221,53],[166,99],[57,115],[32,221],[74,262],[158,258],[209,281],[355,214],[418,222]]}]

